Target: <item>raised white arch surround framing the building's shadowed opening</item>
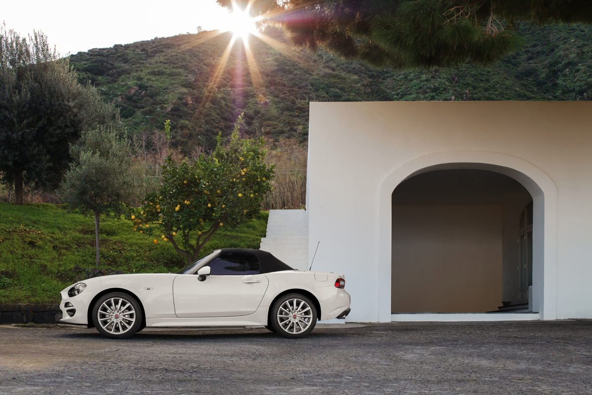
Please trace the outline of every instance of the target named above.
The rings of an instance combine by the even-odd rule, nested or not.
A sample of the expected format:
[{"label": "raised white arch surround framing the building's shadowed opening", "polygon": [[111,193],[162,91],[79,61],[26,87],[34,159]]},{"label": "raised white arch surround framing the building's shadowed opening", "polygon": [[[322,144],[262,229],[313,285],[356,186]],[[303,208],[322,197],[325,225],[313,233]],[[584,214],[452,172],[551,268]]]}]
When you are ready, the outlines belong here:
[{"label": "raised white arch surround framing the building's shadowed opening", "polygon": [[[399,184],[413,176],[449,169],[488,170],[507,175],[525,187],[532,196],[532,310],[539,311],[540,319],[556,319],[557,190],[554,182],[536,166],[516,156],[485,151],[448,151],[410,160],[393,169],[381,184],[378,202],[376,277],[379,321],[403,320],[391,314],[392,192]],[[474,316],[474,319],[487,318]],[[408,320],[418,320],[418,317]],[[430,320],[434,320],[433,317],[430,317]],[[441,314],[436,320],[451,318]]]}]

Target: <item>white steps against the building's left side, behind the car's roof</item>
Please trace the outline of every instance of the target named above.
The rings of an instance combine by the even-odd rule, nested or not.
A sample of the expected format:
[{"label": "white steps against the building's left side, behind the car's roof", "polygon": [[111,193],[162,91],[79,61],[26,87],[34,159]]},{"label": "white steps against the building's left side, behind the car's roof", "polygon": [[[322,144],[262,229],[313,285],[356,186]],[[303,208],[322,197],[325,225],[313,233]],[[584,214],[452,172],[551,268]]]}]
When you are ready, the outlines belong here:
[{"label": "white steps against the building's left side, behind the car's roof", "polygon": [[269,210],[260,249],[294,269],[308,270],[308,219],[305,210]]}]

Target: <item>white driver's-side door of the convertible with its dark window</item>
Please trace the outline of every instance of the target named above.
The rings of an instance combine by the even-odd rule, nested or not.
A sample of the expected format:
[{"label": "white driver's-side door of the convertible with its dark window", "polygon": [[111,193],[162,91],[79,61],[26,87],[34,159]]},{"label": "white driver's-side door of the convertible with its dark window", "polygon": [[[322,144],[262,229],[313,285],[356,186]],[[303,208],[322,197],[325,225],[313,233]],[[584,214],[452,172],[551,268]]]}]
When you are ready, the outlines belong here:
[{"label": "white driver's-side door of the convertible with its dark window", "polygon": [[236,317],[255,313],[267,290],[259,259],[250,253],[221,253],[208,264],[204,281],[197,274],[178,275],[173,282],[177,317]]}]

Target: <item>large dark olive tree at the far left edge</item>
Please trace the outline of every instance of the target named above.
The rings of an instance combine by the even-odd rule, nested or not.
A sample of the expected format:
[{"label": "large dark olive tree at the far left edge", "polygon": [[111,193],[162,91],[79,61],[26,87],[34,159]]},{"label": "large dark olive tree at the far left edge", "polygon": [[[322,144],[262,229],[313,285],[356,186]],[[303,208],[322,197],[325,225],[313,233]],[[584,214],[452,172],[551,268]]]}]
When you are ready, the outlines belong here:
[{"label": "large dark olive tree at the far left edge", "polygon": [[114,105],[78,83],[67,57],[43,33],[21,37],[0,26],[0,174],[22,204],[24,185],[54,190],[83,130],[118,123]]}]

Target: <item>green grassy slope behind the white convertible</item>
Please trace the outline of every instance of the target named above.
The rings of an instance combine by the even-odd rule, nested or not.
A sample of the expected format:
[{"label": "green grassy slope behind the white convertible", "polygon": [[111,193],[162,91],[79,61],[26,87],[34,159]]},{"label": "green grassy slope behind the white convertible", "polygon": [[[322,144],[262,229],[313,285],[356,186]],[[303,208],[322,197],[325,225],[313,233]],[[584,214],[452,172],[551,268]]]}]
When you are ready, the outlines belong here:
[{"label": "green grassy slope behind the white convertible", "polygon": [[[201,251],[259,248],[267,213],[221,229]],[[172,272],[186,265],[170,243],[134,232],[130,220],[101,219],[101,266],[124,273]],[[72,268],[95,265],[94,217],[68,213],[52,204],[0,203],[0,303],[57,303],[74,282]]]}]

